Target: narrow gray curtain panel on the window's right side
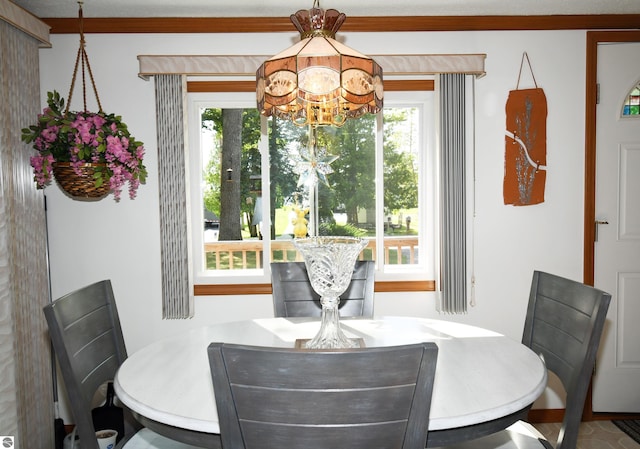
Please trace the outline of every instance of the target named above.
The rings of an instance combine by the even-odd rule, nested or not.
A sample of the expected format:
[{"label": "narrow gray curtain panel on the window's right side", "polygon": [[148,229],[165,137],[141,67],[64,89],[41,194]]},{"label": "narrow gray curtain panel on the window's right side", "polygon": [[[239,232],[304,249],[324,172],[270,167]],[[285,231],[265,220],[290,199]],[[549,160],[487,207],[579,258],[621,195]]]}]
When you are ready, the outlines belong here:
[{"label": "narrow gray curtain panel on the window's right side", "polygon": [[441,247],[438,310],[467,312],[466,80],[442,74],[440,85]]}]

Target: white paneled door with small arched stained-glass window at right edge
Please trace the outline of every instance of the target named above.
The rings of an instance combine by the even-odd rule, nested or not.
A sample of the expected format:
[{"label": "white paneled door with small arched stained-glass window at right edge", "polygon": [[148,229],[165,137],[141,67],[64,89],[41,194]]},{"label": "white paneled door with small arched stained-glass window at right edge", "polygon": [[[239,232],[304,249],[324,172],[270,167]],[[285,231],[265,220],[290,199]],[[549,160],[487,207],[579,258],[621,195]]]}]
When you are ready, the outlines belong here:
[{"label": "white paneled door with small arched stained-glass window at right edge", "polygon": [[594,285],[612,295],[593,380],[594,412],[640,412],[640,43],[598,46]]}]

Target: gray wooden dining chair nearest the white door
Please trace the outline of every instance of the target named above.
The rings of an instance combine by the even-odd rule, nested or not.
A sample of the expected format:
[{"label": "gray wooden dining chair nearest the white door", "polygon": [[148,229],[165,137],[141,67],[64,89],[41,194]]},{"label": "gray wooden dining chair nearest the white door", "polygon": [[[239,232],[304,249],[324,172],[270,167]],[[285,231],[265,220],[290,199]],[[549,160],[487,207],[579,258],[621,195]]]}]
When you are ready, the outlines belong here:
[{"label": "gray wooden dining chair nearest the white door", "polygon": [[[522,343],[543,358],[566,392],[555,449],[575,449],[582,411],[611,295],[553,274],[534,271]],[[505,431],[446,449],[553,449],[532,425],[518,421]]]}]

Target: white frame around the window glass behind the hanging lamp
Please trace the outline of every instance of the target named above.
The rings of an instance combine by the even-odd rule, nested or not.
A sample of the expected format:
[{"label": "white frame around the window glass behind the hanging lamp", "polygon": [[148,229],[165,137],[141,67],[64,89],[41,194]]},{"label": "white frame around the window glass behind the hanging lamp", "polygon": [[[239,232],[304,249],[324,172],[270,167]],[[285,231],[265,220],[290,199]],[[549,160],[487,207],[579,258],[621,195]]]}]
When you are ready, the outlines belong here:
[{"label": "white frame around the window glass behind the hanging lamp", "polygon": [[[437,275],[438,245],[438,201],[437,201],[437,157],[435,145],[435,94],[433,91],[411,92],[386,92],[385,101],[388,106],[418,107],[422,111],[422,141],[419,157],[418,185],[418,209],[420,211],[419,232],[419,263],[415,265],[385,265],[384,245],[376,245],[376,280],[377,281],[425,281],[435,279]],[[188,93],[188,185],[191,208],[191,248],[193,282],[195,285],[215,284],[262,284],[270,282],[269,262],[264,263],[261,269],[224,270],[211,271],[204,269],[204,239],[202,224],[204,222],[202,201],[202,188],[200,184],[202,167],[203,144],[201,142],[200,116],[204,108],[255,108],[255,95],[253,93],[216,92],[216,93]],[[259,143],[262,155],[262,197],[263,217],[270,217],[270,202],[266,199],[270,195],[269,151],[267,136],[267,120],[261,121],[263,138]],[[383,176],[383,151],[382,151],[382,114],[377,118],[376,135],[376,179]],[[426,137],[425,137],[426,136]],[[384,187],[381,182],[376,182],[376,241],[382,242],[384,238]],[[199,206],[196,206],[199,205]],[[428,233],[427,230],[434,230]],[[264,254],[271,254],[270,239],[265,238]],[[428,256],[428,257],[427,257]]]}]

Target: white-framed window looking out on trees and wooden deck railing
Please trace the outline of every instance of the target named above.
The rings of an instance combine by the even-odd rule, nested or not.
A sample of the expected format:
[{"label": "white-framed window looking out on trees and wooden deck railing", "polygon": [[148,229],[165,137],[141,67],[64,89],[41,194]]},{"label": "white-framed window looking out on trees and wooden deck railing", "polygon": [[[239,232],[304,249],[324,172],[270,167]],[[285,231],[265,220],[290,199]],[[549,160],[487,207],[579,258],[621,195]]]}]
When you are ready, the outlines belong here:
[{"label": "white-framed window looking out on trees and wooden deck railing", "polygon": [[269,263],[301,260],[304,226],[368,238],[377,280],[435,278],[432,91],[386,92],[382,114],[318,128],[315,157],[310,131],[261,117],[253,93],[188,99],[195,284],[268,283]]}]

